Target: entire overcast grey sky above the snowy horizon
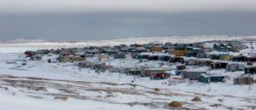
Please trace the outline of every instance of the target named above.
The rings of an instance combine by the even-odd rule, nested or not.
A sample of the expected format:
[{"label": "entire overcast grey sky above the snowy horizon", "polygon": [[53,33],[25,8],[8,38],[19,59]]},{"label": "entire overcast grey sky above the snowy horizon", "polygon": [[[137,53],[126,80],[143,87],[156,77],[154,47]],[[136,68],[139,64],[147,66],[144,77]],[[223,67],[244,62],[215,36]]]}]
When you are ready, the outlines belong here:
[{"label": "entire overcast grey sky above the snowy horizon", "polygon": [[0,0],[0,38],[255,35],[256,0]]}]

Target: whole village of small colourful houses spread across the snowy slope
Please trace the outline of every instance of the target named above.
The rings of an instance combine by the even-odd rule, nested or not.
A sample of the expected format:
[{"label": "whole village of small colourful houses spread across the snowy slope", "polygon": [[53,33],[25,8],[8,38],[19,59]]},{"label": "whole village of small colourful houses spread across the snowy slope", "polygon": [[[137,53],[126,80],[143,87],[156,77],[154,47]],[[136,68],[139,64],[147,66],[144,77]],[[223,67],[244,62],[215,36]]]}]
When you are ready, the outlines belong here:
[{"label": "whole village of small colourful houses spread across the snowy slope", "polygon": [[[31,60],[42,60],[43,55],[58,55],[48,62],[72,62],[80,68],[90,68],[96,72],[120,72],[130,75],[150,77],[151,79],[169,78],[171,75],[182,76],[189,80],[202,83],[224,82],[224,73],[209,73],[211,70],[224,69],[225,72],[244,72],[234,78],[234,84],[253,84],[255,79],[248,74],[256,73],[256,54],[239,52],[248,49],[245,43],[239,41],[208,41],[201,43],[146,43],[102,47],[84,47],[70,49],[39,49],[26,51],[25,55]],[[90,61],[88,58],[96,58]],[[140,62],[166,62],[158,67],[130,66],[115,67],[106,63],[110,59],[137,59]],[[173,68],[173,66],[176,66]],[[207,69],[189,69],[207,67]],[[175,71],[175,74],[171,74]]]}]

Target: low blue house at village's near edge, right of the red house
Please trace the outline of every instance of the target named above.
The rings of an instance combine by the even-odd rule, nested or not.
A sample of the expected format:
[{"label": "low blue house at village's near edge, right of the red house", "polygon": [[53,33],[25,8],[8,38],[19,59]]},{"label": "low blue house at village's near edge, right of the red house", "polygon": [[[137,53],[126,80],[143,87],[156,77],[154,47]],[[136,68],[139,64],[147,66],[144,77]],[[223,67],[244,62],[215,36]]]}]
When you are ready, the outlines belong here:
[{"label": "low blue house at village's near edge, right of the red house", "polygon": [[198,82],[208,84],[209,82],[224,82],[224,75],[219,74],[201,74],[198,77]]}]

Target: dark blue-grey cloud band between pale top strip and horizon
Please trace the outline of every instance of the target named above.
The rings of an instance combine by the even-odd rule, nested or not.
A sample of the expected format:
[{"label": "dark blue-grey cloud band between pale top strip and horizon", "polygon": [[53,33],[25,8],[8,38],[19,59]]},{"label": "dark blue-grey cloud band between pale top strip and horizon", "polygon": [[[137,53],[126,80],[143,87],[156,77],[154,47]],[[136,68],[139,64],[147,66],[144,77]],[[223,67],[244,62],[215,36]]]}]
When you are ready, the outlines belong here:
[{"label": "dark blue-grey cloud band between pale top strip and horizon", "polygon": [[52,41],[189,35],[255,35],[256,13],[0,14],[0,38]]}]

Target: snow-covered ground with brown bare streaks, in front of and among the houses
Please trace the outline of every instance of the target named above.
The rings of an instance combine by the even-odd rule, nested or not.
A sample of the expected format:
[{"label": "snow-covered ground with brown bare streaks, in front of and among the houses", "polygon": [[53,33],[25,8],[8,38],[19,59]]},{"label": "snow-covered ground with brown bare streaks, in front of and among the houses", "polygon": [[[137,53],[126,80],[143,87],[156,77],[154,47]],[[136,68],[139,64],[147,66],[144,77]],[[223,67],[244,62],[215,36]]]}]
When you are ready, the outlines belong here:
[{"label": "snow-covered ground with brown bare streaks, in front of and among the houses", "polygon": [[[1,47],[0,109],[3,110],[175,109],[168,106],[172,101],[183,102],[180,109],[256,108],[256,85],[253,84],[249,90],[248,85],[233,84],[232,78],[241,75],[242,71],[212,70],[210,72],[224,73],[230,79],[210,85],[178,80],[176,77],[150,80],[121,73],[96,73],[88,68],[80,70],[72,63],[47,63],[49,56],[44,56],[43,61],[27,61],[26,66],[21,66],[25,58],[19,54],[21,50],[14,47]],[[7,64],[7,61],[17,63]],[[160,67],[159,64],[163,63],[139,63],[132,59],[106,62],[114,67]],[[169,67],[166,63],[164,65]],[[195,96],[200,96],[202,101],[191,101]]]}]

